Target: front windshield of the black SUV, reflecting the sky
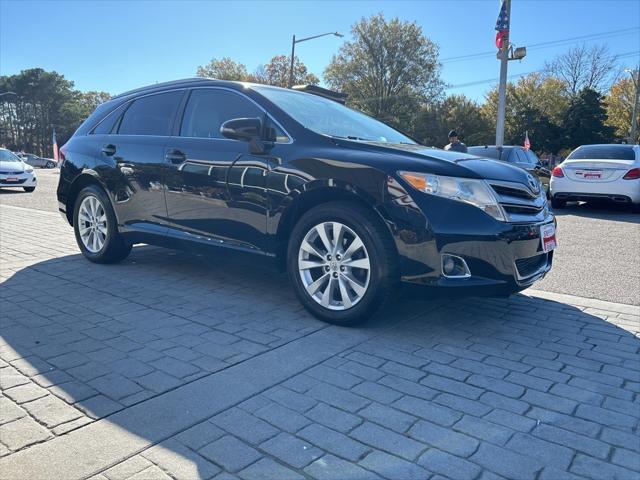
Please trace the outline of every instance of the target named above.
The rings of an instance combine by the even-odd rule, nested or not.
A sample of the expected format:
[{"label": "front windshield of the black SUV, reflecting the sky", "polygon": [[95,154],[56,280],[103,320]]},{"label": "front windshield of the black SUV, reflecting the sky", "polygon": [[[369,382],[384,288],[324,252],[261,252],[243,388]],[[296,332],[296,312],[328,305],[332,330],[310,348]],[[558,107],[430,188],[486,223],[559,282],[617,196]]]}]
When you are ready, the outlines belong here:
[{"label": "front windshield of the black SUV, reflecting the sky", "polygon": [[333,100],[260,85],[253,88],[302,126],[316,133],[350,140],[415,144],[388,125]]}]

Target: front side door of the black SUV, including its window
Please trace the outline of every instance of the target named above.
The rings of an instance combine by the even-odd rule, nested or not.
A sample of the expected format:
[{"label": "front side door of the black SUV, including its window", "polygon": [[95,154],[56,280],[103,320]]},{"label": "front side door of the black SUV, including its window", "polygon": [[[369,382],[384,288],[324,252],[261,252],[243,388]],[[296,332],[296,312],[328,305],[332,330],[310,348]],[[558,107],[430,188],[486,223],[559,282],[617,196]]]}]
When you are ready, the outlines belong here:
[{"label": "front side door of the black SUV, including its window", "polygon": [[265,250],[268,155],[251,155],[246,142],[224,138],[233,118],[266,118],[240,92],[193,89],[182,121],[165,148],[169,234],[251,250]]}]

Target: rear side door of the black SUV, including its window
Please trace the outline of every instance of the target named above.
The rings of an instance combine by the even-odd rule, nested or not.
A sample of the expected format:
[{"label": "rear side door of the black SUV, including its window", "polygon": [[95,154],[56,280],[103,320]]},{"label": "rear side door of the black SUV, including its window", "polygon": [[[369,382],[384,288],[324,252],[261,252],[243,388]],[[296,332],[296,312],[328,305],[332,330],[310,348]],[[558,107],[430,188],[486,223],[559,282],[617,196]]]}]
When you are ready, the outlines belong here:
[{"label": "rear side door of the black SUV, including its window", "polygon": [[102,135],[100,155],[115,163],[114,209],[124,229],[164,233],[167,208],[164,147],[185,90],[139,97]]}]

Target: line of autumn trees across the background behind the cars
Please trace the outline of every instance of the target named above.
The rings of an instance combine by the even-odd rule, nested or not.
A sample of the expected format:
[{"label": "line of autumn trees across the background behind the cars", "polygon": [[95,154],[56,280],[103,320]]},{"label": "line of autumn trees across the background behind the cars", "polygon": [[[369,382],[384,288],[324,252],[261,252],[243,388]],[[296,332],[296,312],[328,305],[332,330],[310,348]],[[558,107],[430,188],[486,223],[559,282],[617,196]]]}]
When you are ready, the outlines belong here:
[{"label": "line of autumn trees across the background behind the cars", "polygon": [[[439,47],[415,22],[378,14],[356,22],[323,72],[324,83],[348,94],[347,105],[378,118],[425,145],[442,147],[447,132],[458,131],[469,145],[493,144],[497,87],[478,102],[464,94],[446,95]],[[564,153],[585,143],[627,139],[635,84],[621,75],[606,46],[577,46],[544,69],[507,85],[505,143]],[[250,72],[230,57],[197,68],[201,77],[286,87],[290,57],[276,55]],[[636,73],[637,78],[637,73]],[[294,58],[294,84],[320,79]],[[80,123],[109,97],[81,92],[57,72],[41,68],[0,76],[0,145],[50,156],[55,128],[62,145]],[[635,142],[638,142],[638,138]]]}]

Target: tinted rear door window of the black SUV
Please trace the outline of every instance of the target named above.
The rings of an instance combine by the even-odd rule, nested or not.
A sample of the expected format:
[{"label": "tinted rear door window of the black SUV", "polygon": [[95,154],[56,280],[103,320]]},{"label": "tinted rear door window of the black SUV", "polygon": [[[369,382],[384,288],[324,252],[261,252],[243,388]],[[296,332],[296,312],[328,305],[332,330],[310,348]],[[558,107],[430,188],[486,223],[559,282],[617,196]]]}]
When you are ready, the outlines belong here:
[{"label": "tinted rear door window of the black SUV", "polygon": [[159,93],[134,100],[124,112],[120,135],[171,134],[171,124],[182,98],[182,91]]}]

